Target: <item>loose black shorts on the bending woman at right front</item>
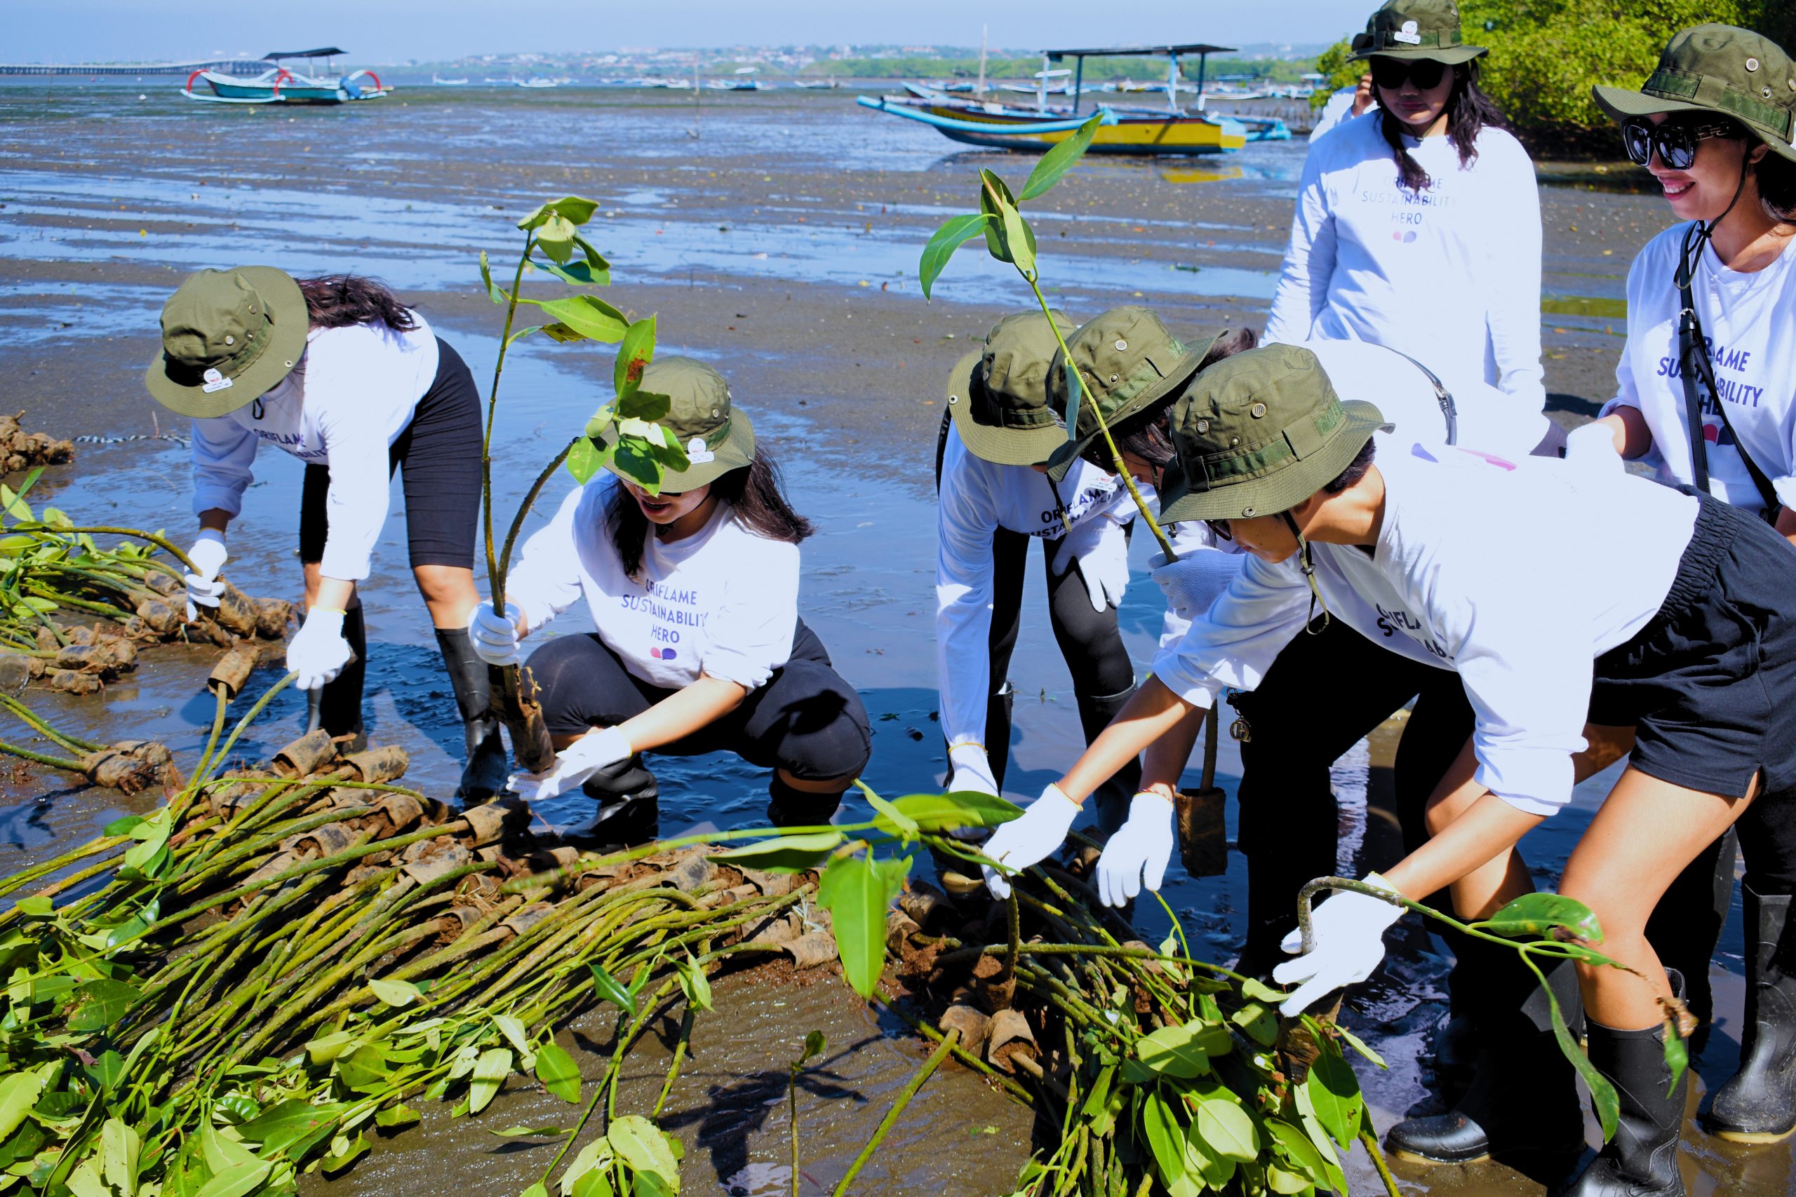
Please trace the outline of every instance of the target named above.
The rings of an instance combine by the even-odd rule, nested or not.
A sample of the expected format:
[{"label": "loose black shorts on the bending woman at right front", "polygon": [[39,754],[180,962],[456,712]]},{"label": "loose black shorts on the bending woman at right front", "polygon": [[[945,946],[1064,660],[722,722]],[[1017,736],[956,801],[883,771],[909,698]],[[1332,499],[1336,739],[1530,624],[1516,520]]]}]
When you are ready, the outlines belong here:
[{"label": "loose black shorts on the bending woman at right front", "polygon": [[1697,501],[1660,614],[1597,659],[1589,718],[1633,727],[1633,765],[1660,781],[1739,799],[1764,773],[1782,793],[1796,782],[1796,549],[1755,515]]}]

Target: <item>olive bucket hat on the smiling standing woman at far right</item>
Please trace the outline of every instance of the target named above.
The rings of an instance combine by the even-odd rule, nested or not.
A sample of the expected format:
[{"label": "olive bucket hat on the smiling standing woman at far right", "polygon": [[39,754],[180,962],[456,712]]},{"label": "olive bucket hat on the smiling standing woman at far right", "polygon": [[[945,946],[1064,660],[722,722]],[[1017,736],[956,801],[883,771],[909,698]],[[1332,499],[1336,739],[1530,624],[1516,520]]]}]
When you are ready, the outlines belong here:
[{"label": "olive bucket hat on the smiling standing woman at far right", "polygon": [[1746,126],[1796,162],[1796,65],[1776,41],[1733,25],[1695,25],[1672,34],[1660,65],[1640,84],[1595,86],[1591,99],[1616,120],[1652,113],[1715,113]]}]

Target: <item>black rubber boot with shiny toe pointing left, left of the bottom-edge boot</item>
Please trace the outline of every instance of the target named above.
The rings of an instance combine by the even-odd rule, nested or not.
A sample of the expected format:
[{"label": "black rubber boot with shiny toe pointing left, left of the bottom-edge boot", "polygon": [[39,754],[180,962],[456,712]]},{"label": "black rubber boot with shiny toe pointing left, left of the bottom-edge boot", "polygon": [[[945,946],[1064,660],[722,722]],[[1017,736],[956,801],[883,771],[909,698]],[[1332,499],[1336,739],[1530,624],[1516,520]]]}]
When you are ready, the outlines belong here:
[{"label": "black rubber boot with shiny toe pointing left, left of the bottom-edge boot", "polygon": [[[1514,953],[1482,969],[1491,996],[1480,1003],[1476,1070],[1464,1097],[1444,1114],[1408,1118],[1390,1129],[1387,1149],[1415,1163],[1473,1163],[1505,1154],[1584,1150],[1577,1075],[1559,1052],[1546,991]],[[1570,960],[1546,973],[1561,1014],[1577,1027],[1577,969]]]}]

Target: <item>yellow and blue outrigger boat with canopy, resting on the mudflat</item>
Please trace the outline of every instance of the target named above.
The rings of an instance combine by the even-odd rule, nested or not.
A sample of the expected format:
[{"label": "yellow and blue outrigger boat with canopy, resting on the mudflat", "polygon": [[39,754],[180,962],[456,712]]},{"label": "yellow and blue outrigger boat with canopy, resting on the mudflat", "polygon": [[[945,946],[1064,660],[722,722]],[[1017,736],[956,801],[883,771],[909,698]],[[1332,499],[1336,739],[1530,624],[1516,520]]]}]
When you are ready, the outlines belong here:
[{"label": "yellow and blue outrigger boat with canopy, resting on the mudflat", "polygon": [[[1036,75],[1034,108],[990,100],[959,100],[932,88],[909,86],[911,95],[857,97],[857,102],[875,111],[934,127],[943,136],[966,145],[1042,153],[1067,140],[1085,122],[1079,100],[1085,92],[1087,57],[1166,57],[1166,108],[1135,108],[1124,104],[1097,104],[1105,113],[1092,138],[1094,154],[1219,154],[1241,149],[1248,142],[1284,140],[1290,129],[1282,120],[1255,117],[1219,117],[1203,111],[1203,72],[1211,54],[1234,47],[1185,43],[1157,47],[1101,47],[1076,50],[1042,50],[1042,72]],[[1198,108],[1185,111],[1178,92],[1189,88],[1178,77],[1180,57],[1198,56]],[[1063,72],[1056,63],[1072,59],[1070,104],[1047,102],[1049,79]]]}]

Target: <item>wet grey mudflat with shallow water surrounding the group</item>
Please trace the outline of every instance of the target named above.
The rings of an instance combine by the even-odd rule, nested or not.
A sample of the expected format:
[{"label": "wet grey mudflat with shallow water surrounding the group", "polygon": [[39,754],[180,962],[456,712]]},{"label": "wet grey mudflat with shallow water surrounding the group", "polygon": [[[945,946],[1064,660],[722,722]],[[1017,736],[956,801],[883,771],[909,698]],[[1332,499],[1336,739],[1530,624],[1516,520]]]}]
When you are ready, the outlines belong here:
[{"label": "wet grey mudflat with shallow water surrounding the group", "polygon": [[[0,88],[0,384],[9,411],[23,407],[32,427],[63,436],[181,432],[178,422],[156,418],[142,391],[156,310],[187,271],[241,262],[386,278],[462,350],[485,386],[499,316],[480,289],[478,251],[487,249],[499,273],[505,255],[515,253],[512,221],[523,210],[568,192],[593,196],[603,215],[589,235],[612,257],[616,276],[609,301],[657,312],[663,352],[700,355],[724,370],[787,463],[797,506],[819,520],[819,535],[805,547],[803,612],[873,714],[869,784],[905,793],[939,779],[929,476],[939,386],[1000,314],[1027,305],[1027,291],[1009,267],[968,249],[943,275],[934,303],[925,303],[914,266],[936,224],[970,206],[981,165],[1018,183],[1026,160],[970,153],[929,129],[882,120],[853,108],[850,93],[706,95],[697,138],[688,136],[691,99],[672,93],[411,90],[379,104],[296,113],[207,108],[167,90],[145,100],[136,93]],[[1175,328],[1259,327],[1300,165],[1300,142],[1255,145],[1225,163],[1083,165],[1029,206],[1051,300],[1076,319],[1133,300],[1155,305]],[[1573,181],[1543,190],[1545,366],[1554,415],[1566,424],[1582,422],[1613,393],[1627,264],[1668,223],[1654,196],[1618,194],[1609,178]],[[1604,190],[1589,190],[1591,183]],[[535,463],[598,404],[609,370],[609,352],[594,346],[532,339],[512,355],[496,445],[506,465],[497,510],[515,506]],[[83,445],[81,454],[75,468],[50,470],[41,483],[57,506],[178,533],[190,528],[187,454],[178,443]],[[539,513],[551,511],[569,485],[557,479]],[[251,592],[293,596],[298,589],[296,492],[293,461],[259,461],[257,486],[232,533],[228,571]],[[395,492],[393,515],[401,513]],[[1122,625],[1131,655],[1146,668],[1160,596],[1144,569],[1151,546],[1144,537],[1137,542]],[[381,567],[365,589],[372,730],[413,752],[413,784],[447,793],[460,732],[427,621],[399,567],[402,551],[404,522],[392,519],[377,547]],[[1031,567],[1027,610],[1040,612],[1042,603]],[[124,716],[133,734],[163,736],[176,752],[194,752],[210,714],[210,703],[199,702],[210,657],[156,650],[104,703],[36,693],[32,702],[77,734],[119,730]],[[266,666],[262,675],[271,682],[278,668]],[[1078,736],[1045,619],[1026,621],[1013,682],[1022,700],[1009,791],[1027,800],[1058,777]],[[298,698],[277,702],[244,756],[278,747],[302,720]],[[1367,795],[1343,800],[1342,872],[1361,874],[1394,858],[1388,777],[1378,766],[1387,750],[1376,747]],[[1232,745],[1225,743],[1219,768],[1219,782],[1232,791],[1239,772]],[[665,834],[760,820],[765,782],[740,761],[699,757],[657,765],[657,772]],[[1595,784],[1580,788],[1573,809],[1530,836],[1543,885],[1557,879],[1600,793]],[[119,811],[147,806],[142,797],[70,790],[36,768],[0,788],[0,802],[7,833],[0,869],[61,851]],[[589,811],[564,799],[539,813],[577,826]],[[1230,826],[1232,818],[1230,808]],[[1232,957],[1245,906],[1239,856],[1227,876],[1202,881],[1175,863],[1167,899],[1200,955]],[[1157,908],[1140,912],[1139,924],[1146,939],[1166,931]],[[1392,1064],[1388,1073],[1361,1068],[1379,1127],[1426,1109],[1426,1032],[1439,1018],[1444,964],[1439,946],[1408,928],[1381,974],[1349,1003],[1349,1025]],[[1699,1061],[1710,1086],[1731,1073],[1737,1043],[1737,908],[1719,964],[1722,1019]],[[760,992],[744,998],[727,1007],[727,1018],[765,1016],[770,1039],[785,1034],[796,1043],[806,1019],[817,1018],[805,1007],[781,1021],[763,1009]],[[841,1068],[867,1100],[810,1098],[812,1111],[828,1111],[819,1116],[841,1120],[828,1131],[832,1145],[815,1156],[837,1166],[871,1132],[884,1113],[880,1095],[902,1084],[916,1055],[905,1039],[878,1037],[889,1028],[875,1030],[869,1016],[853,1018],[839,1023],[839,1046],[862,1046]],[[713,1127],[727,1122],[724,1138],[740,1134],[740,1150],[731,1147],[727,1159],[704,1140],[709,1098],[747,1093],[754,1077],[788,1059],[783,1041],[756,1055],[763,1046],[724,1043],[709,1061],[717,1073],[708,1088],[682,1084],[682,1109],[691,1111],[682,1123],[688,1192],[787,1192],[779,1172],[785,1122],[772,1097],[765,1097],[772,1113],[760,1122],[713,1118]],[[957,1075],[957,1089],[932,1082],[954,1095],[952,1104],[912,1109],[907,1125],[914,1122],[918,1145],[929,1147],[921,1154],[941,1159],[927,1175],[894,1177],[891,1192],[993,1192],[1015,1174],[1017,1156],[991,1152],[975,1131],[1000,1127],[997,1138],[1015,1152],[1027,1120],[968,1080]],[[548,1102],[541,1095],[519,1100]],[[727,1105],[718,1102],[718,1109]],[[481,1123],[557,1122],[546,1107],[528,1114],[519,1107],[503,1122],[494,1116]],[[803,1116],[801,1125],[808,1125]],[[541,1152],[489,1141],[480,1123],[451,1127],[442,1118],[422,1131],[427,1149],[420,1149],[422,1134],[399,1136],[350,1177],[321,1188],[388,1192],[481,1175],[499,1192],[528,1177],[530,1163],[542,1166]],[[514,1154],[530,1163],[514,1166]],[[997,1163],[975,1179],[957,1172],[963,1156]],[[1782,1193],[1789,1163],[1787,1149],[1730,1154],[1701,1132],[1685,1140],[1692,1192]],[[814,1181],[828,1186],[833,1175]],[[1537,1193],[1550,1183],[1498,1165],[1401,1175],[1413,1192]],[[1363,1166],[1354,1170],[1354,1192],[1361,1183],[1376,1184]]]}]

